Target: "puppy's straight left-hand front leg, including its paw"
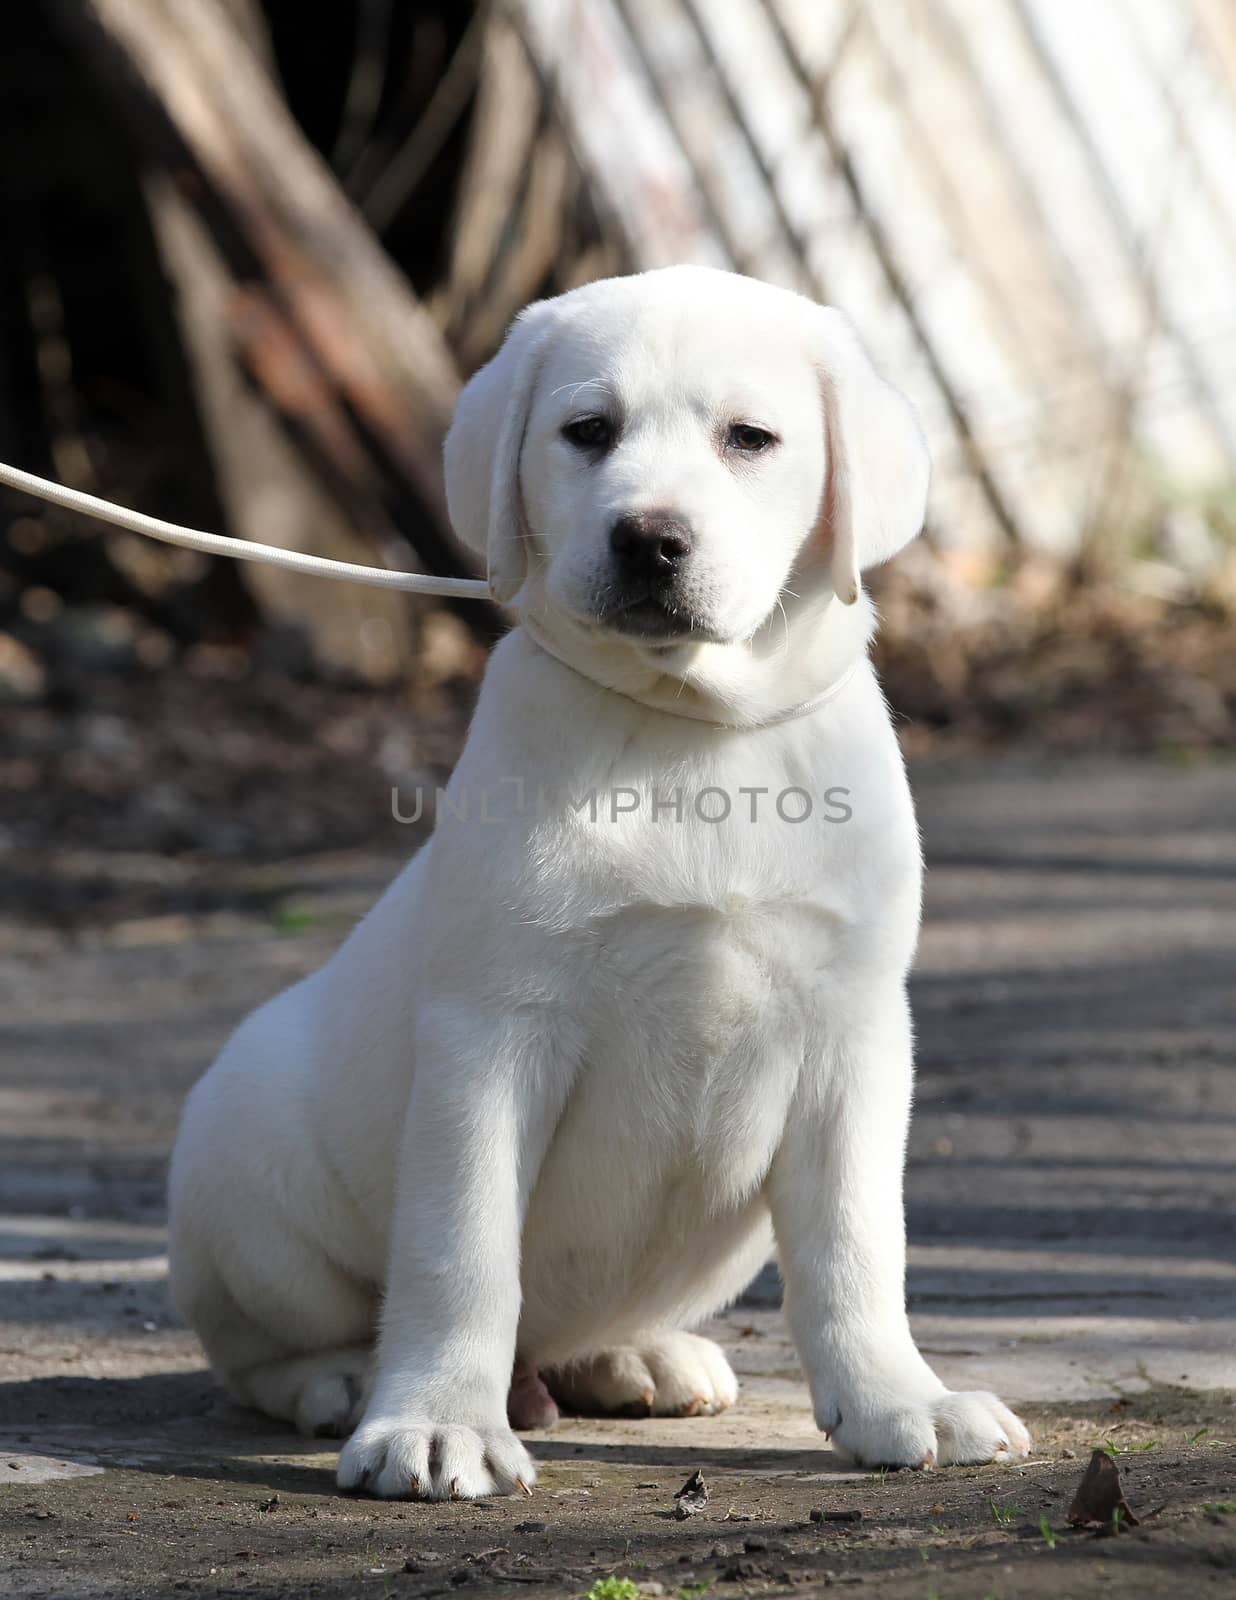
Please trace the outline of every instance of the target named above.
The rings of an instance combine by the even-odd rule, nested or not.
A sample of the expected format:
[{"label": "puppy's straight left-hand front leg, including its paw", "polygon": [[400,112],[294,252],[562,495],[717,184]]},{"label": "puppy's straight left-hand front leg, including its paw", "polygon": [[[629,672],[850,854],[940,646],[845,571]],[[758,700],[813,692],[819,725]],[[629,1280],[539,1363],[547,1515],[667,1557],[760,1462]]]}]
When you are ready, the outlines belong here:
[{"label": "puppy's straight left-hand front leg, including its paw", "polygon": [[543,1046],[476,1011],[416,1029],[373,1394],[343,1490],[476,1499],[536,1478],[508,1426],[524,1214],[562,1083]]}]

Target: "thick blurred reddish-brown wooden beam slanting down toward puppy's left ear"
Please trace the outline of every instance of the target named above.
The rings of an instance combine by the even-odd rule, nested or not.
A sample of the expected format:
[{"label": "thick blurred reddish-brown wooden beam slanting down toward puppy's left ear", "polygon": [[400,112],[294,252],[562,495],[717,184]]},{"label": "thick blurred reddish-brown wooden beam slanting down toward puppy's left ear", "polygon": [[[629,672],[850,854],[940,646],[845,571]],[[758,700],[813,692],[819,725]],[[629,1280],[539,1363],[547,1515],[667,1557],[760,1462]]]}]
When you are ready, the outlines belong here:
[{"label": "thick blurred reddish-brown wooden beam slanting down toward puppy's left ear", "polygon": [[[218,0],[61,0],[59,14],[227,266],[250,376],[331,491],[376,507],[437,573],[471,574],[440,446],[459,387],[435,323],[309,147]],[[365,518],[373,526],[373,515]],[[469,606],[493,632],[496,616]]]}]

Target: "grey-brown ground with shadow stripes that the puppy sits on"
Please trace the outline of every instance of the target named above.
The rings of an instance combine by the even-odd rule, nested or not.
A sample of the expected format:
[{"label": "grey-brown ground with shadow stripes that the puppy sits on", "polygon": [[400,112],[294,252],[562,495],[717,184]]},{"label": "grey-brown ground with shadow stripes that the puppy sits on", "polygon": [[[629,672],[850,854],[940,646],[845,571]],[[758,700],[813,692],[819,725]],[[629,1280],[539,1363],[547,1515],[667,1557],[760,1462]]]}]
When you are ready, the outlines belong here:
[{"label": "grey-brown ground with shadow stripes that the puppy sits on", "polygon": [[[162,1179],[187,1085],[410,830],[261,866],[86,842],[54,917],[21,893],[0,920],[0,1594],[1231,1594],[1236,766],[973,755],[916,787],[911,1310],[946,1381],[1018,1405],[1026,1466],[841,1469],[765,1274],[717,1323],[733,1413],[565,1421],[517,1502],[338,1496],[331,1451],[221,1400],[171,1318]],[[1135,1530],[1068,1528],[1097,1445]]]}]

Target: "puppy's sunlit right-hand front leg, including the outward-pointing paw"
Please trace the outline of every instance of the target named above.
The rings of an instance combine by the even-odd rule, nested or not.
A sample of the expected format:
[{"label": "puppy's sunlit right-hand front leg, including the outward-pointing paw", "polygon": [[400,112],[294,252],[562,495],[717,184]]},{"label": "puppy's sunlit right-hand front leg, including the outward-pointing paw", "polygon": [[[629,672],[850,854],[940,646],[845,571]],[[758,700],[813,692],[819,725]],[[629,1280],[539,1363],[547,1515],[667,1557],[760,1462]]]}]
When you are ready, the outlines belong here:
[{"label": "puppy's sunlit right-hand front leg, including the outward-pointing paw", "polygon": [[989,1394],[953,1394],[919,1355],[905,1302],[901,1197],[913,1088],[898,986],[857,1018],[789,1117],[768,1200],[786,1312],[815,1419],[865,1466],[1025,1456],[1029,1435]]}]

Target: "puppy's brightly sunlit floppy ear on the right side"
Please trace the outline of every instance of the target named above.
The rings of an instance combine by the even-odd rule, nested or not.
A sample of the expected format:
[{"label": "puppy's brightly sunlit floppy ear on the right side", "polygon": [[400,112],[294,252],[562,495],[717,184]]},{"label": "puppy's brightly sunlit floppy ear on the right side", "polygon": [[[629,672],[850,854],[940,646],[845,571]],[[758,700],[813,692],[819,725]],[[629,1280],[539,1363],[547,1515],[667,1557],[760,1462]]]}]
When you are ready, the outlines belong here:
[{"label": "puppy's brightly sunlit floppy ear on the right side", "polygon": [[879,376],[850,320],[831,306],[817,315],[828,432],[820,520],[833,589],[853,605],[863,568],[887,562],[922,528],[930,459],[909,402]]}]

